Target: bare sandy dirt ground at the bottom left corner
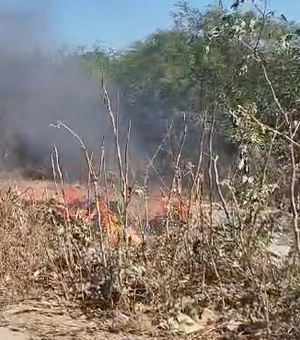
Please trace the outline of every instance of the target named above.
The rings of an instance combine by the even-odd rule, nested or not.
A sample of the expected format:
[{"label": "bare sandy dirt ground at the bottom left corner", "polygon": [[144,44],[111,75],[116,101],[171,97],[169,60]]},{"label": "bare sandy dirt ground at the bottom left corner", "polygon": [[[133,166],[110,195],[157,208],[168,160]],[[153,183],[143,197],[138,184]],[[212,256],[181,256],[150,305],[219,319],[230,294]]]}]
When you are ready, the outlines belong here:
[{"label": "bare sandy dirt ground at the bottom left corner", "polygon": [[[6,306],[0,314],[1,340],[147,340],[147,336],[109,332],[83,315],[71,317],[51,303],[28,302]],[[151,338],[153,339],[153,338]]]}]

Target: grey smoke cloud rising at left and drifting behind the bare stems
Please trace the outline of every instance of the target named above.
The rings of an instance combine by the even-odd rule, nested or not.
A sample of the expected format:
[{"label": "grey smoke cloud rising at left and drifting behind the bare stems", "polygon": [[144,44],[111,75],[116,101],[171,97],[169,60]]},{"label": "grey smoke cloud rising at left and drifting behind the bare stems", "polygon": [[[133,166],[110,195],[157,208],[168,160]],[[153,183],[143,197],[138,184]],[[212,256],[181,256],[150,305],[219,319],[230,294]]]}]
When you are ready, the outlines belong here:
[{"label": "grey smoke cloud rising at left and drifting behind the bare stems", "polygon": [[[82,138],[95,162],[100,158],[104,137],[106,170],[116,171],[114,136],[100,97],[100,84],[80,73],[76,56],[41,53],[57,44],[54,2],[23,0],[8,7],[3,1],[16,0],[2,0],[0,4],[0,165],[6,169],[46,169],[51,175],[50,155],[55,143],[66,177],[80,179],[86,173],[86,162],[78,141],[69,132],[50,126],[62,121]],[[170,108],[153,98],[132,106],[122,95],[117,100],[115,86],[110,84],[108,88],[113,108],[118,108],[123,137],[128,119],[132,120],[130,165],[136,168],[147,159],[146,154],[150,158],[157,154]],[[189,154],[191,149],[197,151],[198,133],[196,129],[188,144],[193,145],[188,147]],[[173,155],[168,148],[160,150],[156,169],[169,171]],[[154,173],[156,176],[157,170]]]}]

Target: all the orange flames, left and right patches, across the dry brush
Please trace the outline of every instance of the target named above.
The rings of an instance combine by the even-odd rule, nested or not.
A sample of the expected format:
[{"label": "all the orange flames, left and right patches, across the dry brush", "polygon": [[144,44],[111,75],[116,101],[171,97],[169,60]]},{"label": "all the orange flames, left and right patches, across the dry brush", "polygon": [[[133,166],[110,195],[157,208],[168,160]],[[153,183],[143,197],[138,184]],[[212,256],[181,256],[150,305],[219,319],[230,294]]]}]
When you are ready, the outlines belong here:
[{"label": "all the orange flames, left and right patches, across the dry brush", "polygon": [[[55,190],[49,183],[31,182],[31,186],[26,184],[25,189],[23,188],[23,192],[18,196],[27,204],[49,201],[50,197],[52,208],[60,219],[71,224],[91,225],[95,230],[101,226],[101,231],[111,246],[118,247],[123,242],[122,216],[110,208],[105,196],[92,200],[88,197],[86,189],[75,185],[64,185],[59,193],[56,192],[53,195]],[[170,197],[167,195],[151,196],[148,209],[149,225],[151,229],[154,228],[153,231],[160,228],[161,221],[166,218],[183,223],[188,223],[189,220],[189,202],[179,193],[173,193]],[[131,227],[140,221],[137,215],[140,217],[141,211],[143,208],[138,211],[135,211],[134,207],[129,209],[130,227],[126,228],[126,237],[128,244],[133,247],[142,243],[142,237]]]}]

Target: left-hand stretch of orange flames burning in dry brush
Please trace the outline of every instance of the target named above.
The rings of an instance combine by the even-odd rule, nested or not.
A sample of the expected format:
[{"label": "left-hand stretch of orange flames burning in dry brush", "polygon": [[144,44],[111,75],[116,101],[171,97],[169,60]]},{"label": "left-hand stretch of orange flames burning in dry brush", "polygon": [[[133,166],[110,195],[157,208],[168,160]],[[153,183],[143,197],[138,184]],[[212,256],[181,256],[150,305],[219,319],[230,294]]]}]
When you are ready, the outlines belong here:
[{"label": "left-hand stretch of orange flames burning in dry brush", "polygon": [[[109,208],[109,202],[104,197],[92,200],[88,197],[85,189],[75,185],[65,185],[57,193],[53,186],[50,190],[48,187],[44,187],[44,182],[32,182],[31,186],[28,186],[28,183],[22,184],[16,194],[26,204],[50,201],[53,210],[60,219],[69,223],[89,224],[95,229],[98,229],[100,225],[111,246],[118,247],[123,241],[122,218]],[[23,190],[20,191],[20,189]],[[126,236],[130,246],[135,247],[142,242],[141,237],[131,227],[126,229]]]}]

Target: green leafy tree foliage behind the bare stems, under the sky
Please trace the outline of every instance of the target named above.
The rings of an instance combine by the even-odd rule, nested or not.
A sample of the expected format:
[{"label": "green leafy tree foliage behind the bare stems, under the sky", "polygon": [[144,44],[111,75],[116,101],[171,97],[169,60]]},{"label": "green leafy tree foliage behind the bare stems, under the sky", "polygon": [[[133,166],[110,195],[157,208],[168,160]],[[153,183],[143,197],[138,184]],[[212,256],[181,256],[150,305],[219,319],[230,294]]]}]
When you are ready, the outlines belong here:
[{"label": "green leafy tree foliage behind the bare stems, under the sky", "polygon": [[[238,106],[253,108],[255,103],[256,117],[273,127],[280,125],[257,54],[278,100],[289,110],[297,108],[299,30],[295,23],[256,5],[243,12],[219,4],[202,13],[181,1],[172,16],[173,28],[157,31],[126,50],[97,49],[85,55],[89,72],[97,79],[104,74],[120,87],[145,144],[157,147],[166,122],[178,120],[182,112],[198,125],[205,113],[215,116],[217,134],[223,143],[233,145],[245,139],[232,127],[232,113]],[[179,124],[177,134],[180,129]],[[264,154],[271,134],[257,134],[253,129],[249,133],[248,142],[255,142],[256,151],[259,148]],[[189,142],[194,144],[195,138]]]}]

